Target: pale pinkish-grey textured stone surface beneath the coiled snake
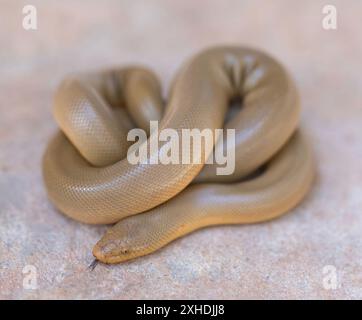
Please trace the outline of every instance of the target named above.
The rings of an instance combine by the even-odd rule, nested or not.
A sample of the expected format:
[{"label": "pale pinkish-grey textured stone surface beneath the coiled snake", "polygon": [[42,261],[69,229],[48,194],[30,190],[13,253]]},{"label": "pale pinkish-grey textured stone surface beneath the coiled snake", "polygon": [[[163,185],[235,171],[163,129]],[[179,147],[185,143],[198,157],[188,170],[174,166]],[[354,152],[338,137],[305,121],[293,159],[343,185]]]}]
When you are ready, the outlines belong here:
[{"label": "pale pinkish-grey textured stone surface beneath the coiled snake", "polygon": [[[1,298],[362,298],[362,2],[0,2]],[[321,27],[337,5],[338,30]],[[205,229],[130,263],[90,272],[106,227],[67,219],[48,202],[41,156],[56,130],[52,94],[69,72],[143,63],[165,84],[201,48],[270,52],[300,88],[302,125],[318,161],[308,198],[264,224]],[[38,288],[23,288],[34,265]],[[323,288],[333,265],[339,287]]]}]

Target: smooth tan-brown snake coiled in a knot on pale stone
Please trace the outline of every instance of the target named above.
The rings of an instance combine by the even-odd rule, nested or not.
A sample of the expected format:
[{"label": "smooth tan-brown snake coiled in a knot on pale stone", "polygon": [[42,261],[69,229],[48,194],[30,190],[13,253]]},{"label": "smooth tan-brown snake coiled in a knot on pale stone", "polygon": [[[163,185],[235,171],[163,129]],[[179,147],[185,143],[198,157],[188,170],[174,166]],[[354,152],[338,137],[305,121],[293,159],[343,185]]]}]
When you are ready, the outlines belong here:
[{"label": "smooth tan-brown snake coiled in a knot on pale stone", "polygon": [[[204,227],[279,217],[313,184],[315,160],[299,128],[296,84],[257,49],[202,50],[181,65],[166,95],[148,67],[73,73],[55,92],[53,114],[60,130],[42,161],[48,197],[79,222],[112,224],[92,252],[103,263],[148,255]],[[206,156],[187,164],[131,164],[127,134],[142,128],[149,143],[150,121],[160,131],[234,129],[234,171],[218,175]],[[224,151],[226,138],[219,137]]]}]

